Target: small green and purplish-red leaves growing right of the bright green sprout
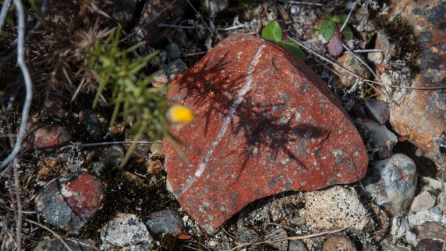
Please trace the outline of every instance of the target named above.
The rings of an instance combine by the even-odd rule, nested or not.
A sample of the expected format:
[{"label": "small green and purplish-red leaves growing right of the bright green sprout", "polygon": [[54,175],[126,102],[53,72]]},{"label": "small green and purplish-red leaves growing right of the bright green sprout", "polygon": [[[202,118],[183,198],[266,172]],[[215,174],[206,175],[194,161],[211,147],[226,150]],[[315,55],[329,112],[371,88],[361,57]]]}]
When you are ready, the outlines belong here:
[{"label": "small green and purplish-red leaves growing right of the bright green sprout", "polygon": [[[353,32],[346,25],[341,31],[341,26],[346,22],[347,17],[335,15],[333,17],[324,16],[321,26],[318,27],[319,33],[328,40],[327,49],[332,56],[339,56],[342,52],[342,36],[346,40],[353,38]],[[348,18],[347,24],[354,22],[353,19]]]}]

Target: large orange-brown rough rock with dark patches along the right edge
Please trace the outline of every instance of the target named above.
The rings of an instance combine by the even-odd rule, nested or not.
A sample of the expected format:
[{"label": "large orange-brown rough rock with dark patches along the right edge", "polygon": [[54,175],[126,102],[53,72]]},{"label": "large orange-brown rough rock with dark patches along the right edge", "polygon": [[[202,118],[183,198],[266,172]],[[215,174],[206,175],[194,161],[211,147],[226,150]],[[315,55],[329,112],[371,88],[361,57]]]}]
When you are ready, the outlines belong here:
[{"label": "large orange-brown rough rock with dark patches along the right edge", "polygon": [[[446,2],[393,1],[393,12],[414,28],[415,40],[420,41],[420,74],[411,86],[446,86]],[[436,137],[445,130],[446,90],[411,91],[399,105],[390,103],[390,123],[400,135],[420,147],[426,156],[436,158],[439,147]]]}]

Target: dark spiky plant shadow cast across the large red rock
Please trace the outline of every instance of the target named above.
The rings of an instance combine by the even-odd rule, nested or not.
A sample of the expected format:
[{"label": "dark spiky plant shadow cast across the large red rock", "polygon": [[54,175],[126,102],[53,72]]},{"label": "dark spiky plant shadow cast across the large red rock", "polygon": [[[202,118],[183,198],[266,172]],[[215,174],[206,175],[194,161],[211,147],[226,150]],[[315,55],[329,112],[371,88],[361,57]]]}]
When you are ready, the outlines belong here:
[{"label": "dark spiky plant shadow cast across the large red rock", "polygon": [[[225,56],[222,56],[222,60]],[[240,157],[244,160],[243,168],[253,155],[261,155],[262,151],[268,150],[271,152],[271,160],[277,160],[279,153],[284,153],[289,159],[298,162],[298,165],[309,170],[310,167],[306,167],[305,163],[300,161],[307,155],[305,148],[312,144],[310,140],[323,146],[325,139],[330,136],[330,131],[309,123],[298,123],[296,125],[294,121],[298,118],[295,114],[289,114],[289,117],[284,119],[283,112],[291,108],[286,102],[267,104],[266,102],[256,101],[255,97],[258,94],[254,93],[254,89],[258,86],[254,81],[245,95],[238,96],[241,89],[246,88],[244,86],[246,85],[245,79],[249,78],[250,75],[270,75],[272,73],[270,69],[256,69],[252,73],[247,73],[247,75],[240,71],[238,76],[234,77],[231,74],[222,77],[222,74],[216,73],[224,73],[225,66],[229,63],[216,64],[218,66],[215,68],[197,68],[191,71],[192,74],[180,76],[179,84],[176,86],[180,91],[182,89],[187,90],[185,97],[194,99],[195,107],[207,107],[204,136],[208,135],[208,126],[213,116],[229,117],[231,119],[229,123],[231,132],[233,135],[242,133],[247,149],[245,151],[230,151],[228,155],[241,155]],[[280,71],[279,68],[275,68],[275,70]],[[280,75],[280,73],[274,74]],[[229,77],[231,78],[229,79]],[[284,100],[289,98],[286,97],[286,94],[283,95]],[[268,96],[268,93],[263,93],[263,95]],[[176,99],[178,97],[174,97],[174,100]],[[234,105],[236,103],[239,105]],[[293,152],[294,149],[289,148],[289,145],[294,142],[298,142],[300,151]],[[242,171],[240,170],[240,172]]]}]

